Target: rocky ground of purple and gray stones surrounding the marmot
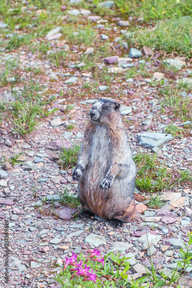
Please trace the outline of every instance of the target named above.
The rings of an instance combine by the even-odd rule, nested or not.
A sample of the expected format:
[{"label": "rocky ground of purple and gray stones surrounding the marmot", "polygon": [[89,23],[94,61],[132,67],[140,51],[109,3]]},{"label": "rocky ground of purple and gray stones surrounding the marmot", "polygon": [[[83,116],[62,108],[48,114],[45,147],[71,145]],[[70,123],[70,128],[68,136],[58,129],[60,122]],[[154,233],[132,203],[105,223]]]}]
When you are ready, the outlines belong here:
[{"label": "rocky ground of purple and gray stones surrounding the marmot", "polygon": [[[54,278],[62,259],[95,247],[102,255],[121,251],[130,257],[130,280],[146,276],[150,255],[158,271],[170,274],[189,241],[191,52],[138,43],[137,33],[159,29],[160,16],[148,21],[145,7],[126,12],[128,2],[119,3],[1,4],[0,288],[60,288]],[[179,19],[192,26],[189,18],[183,13]],[[81,204],[72,179],[89,109],[100,97],[121,104],[138,169],[138,215],[118,229],[97,215],[78,218]],[[192,264],[168,287],[177,285],[192,286]]]}]

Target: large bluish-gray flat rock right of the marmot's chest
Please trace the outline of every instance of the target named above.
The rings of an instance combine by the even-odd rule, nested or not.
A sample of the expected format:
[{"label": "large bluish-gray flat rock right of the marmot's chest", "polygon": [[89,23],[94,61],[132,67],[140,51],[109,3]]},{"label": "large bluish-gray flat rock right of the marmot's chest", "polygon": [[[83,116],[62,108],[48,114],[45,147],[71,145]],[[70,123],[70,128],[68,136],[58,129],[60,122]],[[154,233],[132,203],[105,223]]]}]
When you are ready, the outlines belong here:
[{"label": "large bluish-gray flat rock right of the marmot's chest", "polygon": [[172,140],[173,136],[159,132],[142,132],[137,133],[137,138],[140,146],[152,149],[153,147],[161,146],[163,143]]}]

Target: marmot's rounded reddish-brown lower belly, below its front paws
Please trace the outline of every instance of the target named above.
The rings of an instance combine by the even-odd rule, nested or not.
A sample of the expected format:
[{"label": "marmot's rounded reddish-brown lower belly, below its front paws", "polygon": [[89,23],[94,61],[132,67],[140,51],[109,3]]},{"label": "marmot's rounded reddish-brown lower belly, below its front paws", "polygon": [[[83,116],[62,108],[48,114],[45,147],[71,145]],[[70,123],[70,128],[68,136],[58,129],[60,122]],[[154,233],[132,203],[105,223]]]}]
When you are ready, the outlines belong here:
[{"label": "marmot's rounded reddish-brown lower belly, below its front paws", "polygon": [[[83,193],[81,197],[86,200],[90,210],[104,219],[120,219],[128,221],[135,216],[135,202],[130,196],[122,193],[123,183],[121,185],[114,181],[109,190],[100,190],[99,185],[102,183],[106,171],[95,173],[86,173],[83,175]],[[120,187],[122,186],[122,187]],[[125,188],[125,187],[124,187]],[[123,191],[125,192],[125,191]],[[81,200],[81,199],[80,199]]]}]

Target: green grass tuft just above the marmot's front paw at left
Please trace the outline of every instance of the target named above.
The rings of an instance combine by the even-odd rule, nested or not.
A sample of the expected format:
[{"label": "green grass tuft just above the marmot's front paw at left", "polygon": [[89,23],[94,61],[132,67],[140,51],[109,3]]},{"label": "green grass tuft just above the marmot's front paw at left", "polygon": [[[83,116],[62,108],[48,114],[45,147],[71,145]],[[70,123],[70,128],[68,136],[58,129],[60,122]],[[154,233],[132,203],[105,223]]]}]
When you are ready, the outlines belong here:
[{"label": "green grass tuft just above the marmot's front paw at left", "polygon": [[61,168],[68,170],[69,168],[74,168],[77,164],[77,158],[80,151],[80,145],[73,144],[70,148],[62,147],[62,150],[57,152],[59,156],[59,164]]}]

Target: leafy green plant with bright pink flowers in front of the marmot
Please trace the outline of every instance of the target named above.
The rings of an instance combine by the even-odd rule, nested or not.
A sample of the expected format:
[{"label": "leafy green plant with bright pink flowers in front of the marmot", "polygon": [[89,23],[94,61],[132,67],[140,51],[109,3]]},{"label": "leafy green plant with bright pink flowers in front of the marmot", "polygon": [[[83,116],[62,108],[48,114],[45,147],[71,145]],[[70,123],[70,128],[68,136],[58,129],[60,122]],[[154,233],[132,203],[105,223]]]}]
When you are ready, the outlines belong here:
[{"label": "leafy green plant with bright pink flowers in front of the marmot", "polygon": [[[126,272],[129,269],[129,264],[127,264],[124,260],[128,259],[122,257],[121,259],[117,259],[119,257],[119,252],[117,257],[113,253],[108,253],[106,256],[102,257],[101,252],[94,248],[94,250],[88,250],[87,253],[89,255],[87,257],[83,257],[81,253],[79,256],[72,252],[72,257],[66,259],[62,259],[64,263],[60,274],[55,280],[61,283],[61,287],[124,287],[130,281],[128,280],[128,275]],[[108,257],[111,255],[111,259],[115,261],[115,267],[117,267],[116,271],[113,270],[114,261],[110,261]],[[127,265],[126,265],[127,264]],[[120,271],[121,268],[125,267]],[[102,280],[102,276],[111,275],[115,281],[113,280]],[[145,278],[145,277],[143,277]],[[140,278],[140,283],[142,282],[142,278]],[[103,286],[106,285],[106,286]],[[117,286],[116,286],[117,285]]]}]

